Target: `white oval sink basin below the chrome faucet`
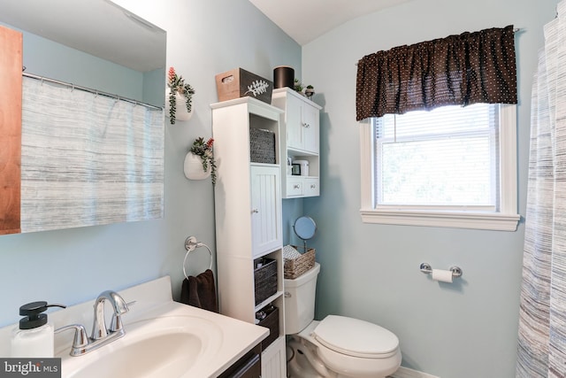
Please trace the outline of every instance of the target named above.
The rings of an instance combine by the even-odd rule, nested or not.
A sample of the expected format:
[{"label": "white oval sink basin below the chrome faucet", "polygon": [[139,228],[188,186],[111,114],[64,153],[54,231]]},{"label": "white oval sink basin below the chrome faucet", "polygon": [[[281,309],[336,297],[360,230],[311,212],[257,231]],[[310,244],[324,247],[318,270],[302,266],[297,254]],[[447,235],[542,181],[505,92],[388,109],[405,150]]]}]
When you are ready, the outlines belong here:
[{"label": "white oval sink basin below the chrome faucet", "polygon": [[164,316],[131,323],[126,336],[83,356],[62,360],[68,378],[176,378],[206,366],[222,343],[210,320]]}]

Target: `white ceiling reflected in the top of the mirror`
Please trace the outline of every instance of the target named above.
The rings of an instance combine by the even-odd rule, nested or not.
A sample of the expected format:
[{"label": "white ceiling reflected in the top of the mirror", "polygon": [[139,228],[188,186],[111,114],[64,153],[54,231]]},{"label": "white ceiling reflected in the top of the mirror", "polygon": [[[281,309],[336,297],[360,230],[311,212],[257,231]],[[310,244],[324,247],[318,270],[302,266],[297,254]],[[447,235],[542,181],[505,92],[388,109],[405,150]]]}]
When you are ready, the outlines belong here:
[{"label": "white ceiling reflected in the top of the mirror", "polygon": [[164,31],[111,0],[0,0],[0,9],[0,22],[119,65],[165,66]]}]

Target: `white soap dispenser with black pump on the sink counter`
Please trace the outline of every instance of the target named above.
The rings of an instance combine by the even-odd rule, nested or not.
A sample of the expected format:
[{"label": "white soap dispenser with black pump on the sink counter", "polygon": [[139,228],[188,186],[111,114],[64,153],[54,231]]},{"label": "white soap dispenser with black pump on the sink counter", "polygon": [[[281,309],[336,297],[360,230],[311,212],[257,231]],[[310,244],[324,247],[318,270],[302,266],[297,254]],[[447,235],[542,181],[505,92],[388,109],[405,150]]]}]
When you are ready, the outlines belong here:
[{"label": "white soap dispenser with black pump on the sink counter", "polygon": [[19,328],[14,329],[11,336],[12,358],[52,358],[54,352],[55,329],[47,322],[47,314],[42,313],[48,307],[65,305],[48,305],[47,302],[32,302],[19,307]]}]

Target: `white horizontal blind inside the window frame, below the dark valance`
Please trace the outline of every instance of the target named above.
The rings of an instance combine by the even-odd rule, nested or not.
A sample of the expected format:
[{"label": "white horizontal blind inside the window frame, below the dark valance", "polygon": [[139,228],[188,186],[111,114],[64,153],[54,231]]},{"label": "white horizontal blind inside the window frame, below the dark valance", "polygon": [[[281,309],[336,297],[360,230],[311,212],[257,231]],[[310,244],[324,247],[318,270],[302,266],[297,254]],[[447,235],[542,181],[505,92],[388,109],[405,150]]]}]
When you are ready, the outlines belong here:
[{"label": "white horizontal blind inside the window frame, below the dark valance", "polygon": [[496,211],[499,104],[375,119],[378,205]]}]

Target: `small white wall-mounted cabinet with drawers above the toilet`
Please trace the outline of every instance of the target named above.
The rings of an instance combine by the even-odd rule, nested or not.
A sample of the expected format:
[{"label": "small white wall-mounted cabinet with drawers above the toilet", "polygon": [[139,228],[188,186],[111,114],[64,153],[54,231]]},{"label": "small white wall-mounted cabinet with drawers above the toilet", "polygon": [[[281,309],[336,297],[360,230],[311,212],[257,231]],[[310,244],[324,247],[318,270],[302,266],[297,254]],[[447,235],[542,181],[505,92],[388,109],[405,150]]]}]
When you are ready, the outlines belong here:
[{"label": "small white wall-mounted cabinet with drawers above the toilet", "polygon": [[[319,196],[319,130],[322,108],[288,88],[273,89],[272,104],[284,111],[279,119],[282,197]],[[308,173],[293,174],[288,164],[297,160],[308,162]]]}]

